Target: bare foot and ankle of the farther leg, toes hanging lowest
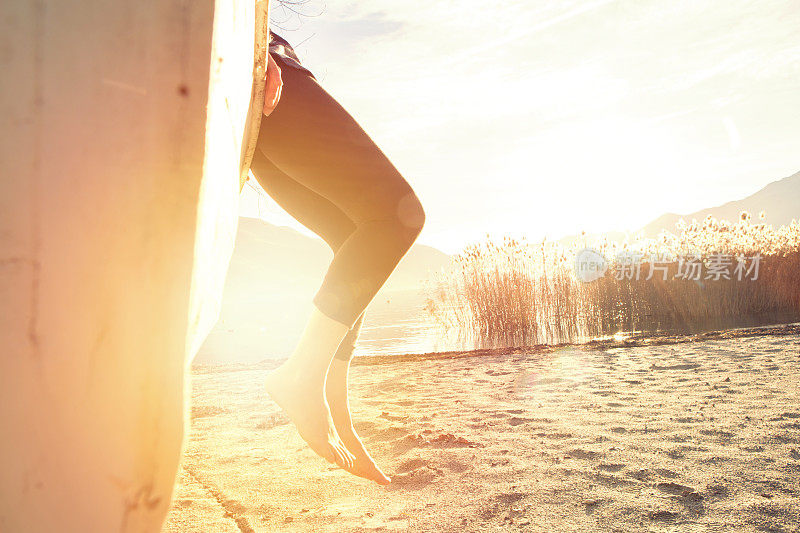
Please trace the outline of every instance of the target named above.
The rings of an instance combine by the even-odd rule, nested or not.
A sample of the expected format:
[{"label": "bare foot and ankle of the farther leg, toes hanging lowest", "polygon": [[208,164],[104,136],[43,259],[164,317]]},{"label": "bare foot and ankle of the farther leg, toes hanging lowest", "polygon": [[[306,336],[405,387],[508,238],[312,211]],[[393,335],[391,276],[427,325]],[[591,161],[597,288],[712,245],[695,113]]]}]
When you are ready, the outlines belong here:
[{"label": "bare foot and ankle of the farther leg, toes hanging lowest", "polygon": [[328,379],[325,384],[325,396],[328,399],[336,431],[344,445],[355,457],[352,466],[345,467],[345,470],[380,485],[388,485],[392,480],[378,468],[353,428],[347,395],[349,367],[349,362],[334,359],[328,369]]}]

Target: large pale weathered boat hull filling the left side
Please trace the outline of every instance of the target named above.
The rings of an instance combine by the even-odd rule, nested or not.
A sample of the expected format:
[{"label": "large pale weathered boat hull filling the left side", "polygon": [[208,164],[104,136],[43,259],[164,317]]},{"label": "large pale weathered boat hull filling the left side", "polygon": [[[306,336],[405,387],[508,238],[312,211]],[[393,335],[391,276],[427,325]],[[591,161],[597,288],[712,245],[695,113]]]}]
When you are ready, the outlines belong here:
[{"label": "large pale weathered boat hull filling the left side", "polygon": [[259,9],[0,6],[0,531],[161,526],[260,116]]}]

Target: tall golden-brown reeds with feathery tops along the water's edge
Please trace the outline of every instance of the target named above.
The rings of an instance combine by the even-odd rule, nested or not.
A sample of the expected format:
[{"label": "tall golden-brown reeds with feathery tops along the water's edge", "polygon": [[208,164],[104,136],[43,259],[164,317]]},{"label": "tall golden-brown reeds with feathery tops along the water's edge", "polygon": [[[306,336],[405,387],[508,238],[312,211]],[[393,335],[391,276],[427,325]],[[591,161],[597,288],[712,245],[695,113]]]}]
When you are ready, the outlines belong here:
[{"label": "tall golden-brown reeds with feathery tops along the water's edge", "polygon": [[[475,348],[800,320],[796,221],[773,228],[742,213],[736,222],[680,222],[674,233],[656,239],[587,240],[584,235],[565,248],[487,238],[432,280],[427,310],[448,337]],[[591,282],[575,275],[575,256],[586,248],[608,264]],[[692,263],[701,274],[694,270],[687,278]]]}]

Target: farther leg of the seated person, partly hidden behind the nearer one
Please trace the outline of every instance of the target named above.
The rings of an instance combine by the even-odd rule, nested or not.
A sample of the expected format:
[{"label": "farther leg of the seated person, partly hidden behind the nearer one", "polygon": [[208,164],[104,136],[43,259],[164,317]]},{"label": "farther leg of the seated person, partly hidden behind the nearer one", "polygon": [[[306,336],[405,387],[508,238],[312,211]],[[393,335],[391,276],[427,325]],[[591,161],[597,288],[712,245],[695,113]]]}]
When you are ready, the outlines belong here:
[{"label": "farther leg of the seated person, partly hidden behind the nearer one", "polygon": [[[338,207],[291,179],[262,154],[256,153],[252,171],[264,190],[298,222],[322,237],[334,253],[355,230],[355,224]],[[325,396],[336,431],[354,455],[353,465],[347,470],[378,483],[388,483],[389,478],[377,467],[356,434],[350,415],[348,373],[363,321],[364,313],[339,345],[328,369]]]}]

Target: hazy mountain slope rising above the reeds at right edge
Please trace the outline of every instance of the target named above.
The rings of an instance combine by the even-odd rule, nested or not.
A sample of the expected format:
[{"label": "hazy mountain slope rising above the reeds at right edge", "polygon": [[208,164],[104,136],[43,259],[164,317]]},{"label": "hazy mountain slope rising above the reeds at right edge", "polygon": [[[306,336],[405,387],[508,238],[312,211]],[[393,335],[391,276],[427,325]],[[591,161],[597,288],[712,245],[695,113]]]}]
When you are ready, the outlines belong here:
[{"label": "hazy mountain slope rising above the reeds at right edge", "polygon": [[773,181],[760,191],[751,194],[741,200],[734,200],[717,207],[709,207],[689,213],[688,215],[677,215],[667,213],[647,224],[644,233],[647,237],[654,237],[662,230],[675,232],[675,224],[683,219],[687,223],[692,219],[698,222],[706,216],[712,215],[716,219],[724,219],[735,222],[739,219],[742,211],[748,211],[757,221],[761,211],[766,213],[765,222],[773,226],[784,226],[792,222],[792,219],[800,219],[800,172],[788,178]]}]

